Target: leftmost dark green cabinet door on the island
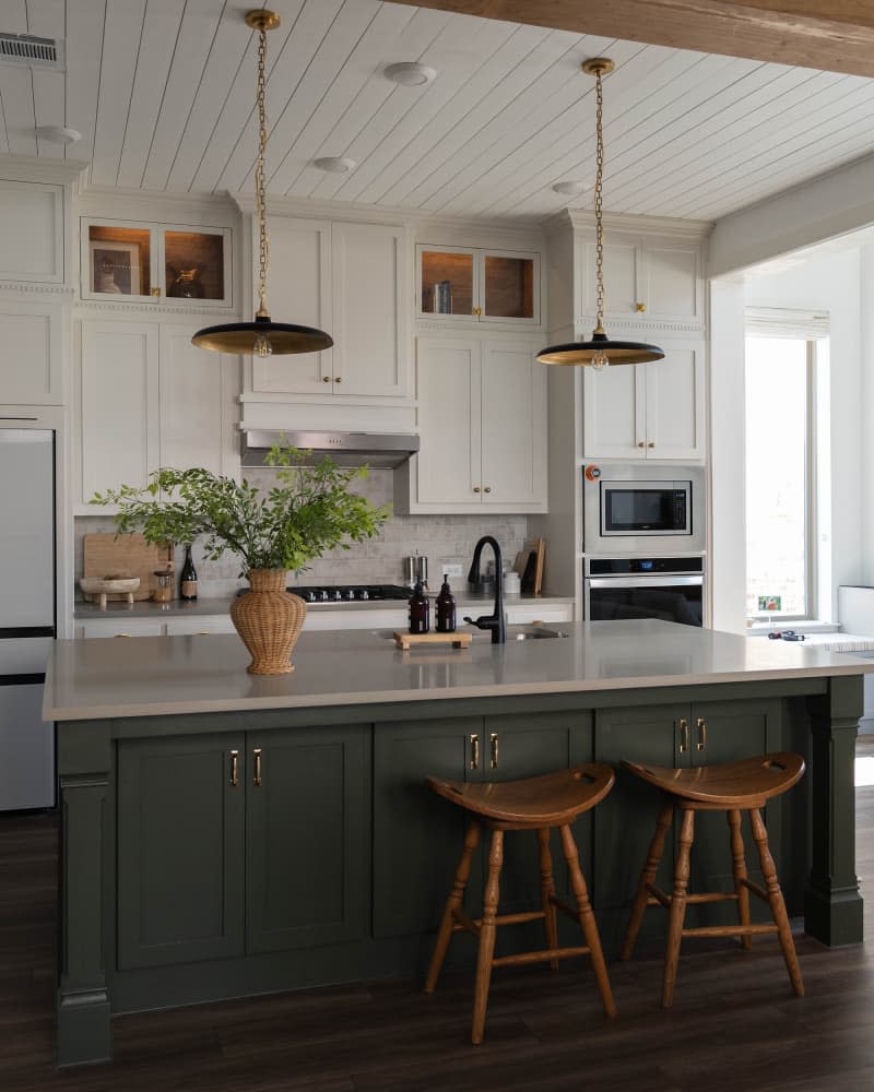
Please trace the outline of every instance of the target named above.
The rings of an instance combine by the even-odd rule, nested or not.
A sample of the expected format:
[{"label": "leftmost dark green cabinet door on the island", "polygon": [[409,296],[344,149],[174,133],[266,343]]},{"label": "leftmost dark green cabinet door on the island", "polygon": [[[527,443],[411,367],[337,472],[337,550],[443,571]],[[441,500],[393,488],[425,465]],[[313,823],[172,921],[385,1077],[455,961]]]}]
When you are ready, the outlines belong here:
[{"label": "leftmost dark green cabinet door on the island", "polygon": [[241,734],[119,743],[120,970],[243,954],[243,748]]}]

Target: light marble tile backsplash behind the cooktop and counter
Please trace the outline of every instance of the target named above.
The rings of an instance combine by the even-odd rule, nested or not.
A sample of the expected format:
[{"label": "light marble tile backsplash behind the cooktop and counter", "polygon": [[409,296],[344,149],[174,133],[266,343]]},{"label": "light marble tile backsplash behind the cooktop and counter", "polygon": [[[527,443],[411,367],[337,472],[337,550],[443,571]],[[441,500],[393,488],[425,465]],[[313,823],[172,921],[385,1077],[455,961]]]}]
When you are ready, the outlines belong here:
[{"label": "light marble tile backsplash behind the cooktop and counter", "polygon": [[[269,468],[250,468],[248,479],[261,488],[269,488],[275,472]],[[370,471],[369,476],[356,483],[356,491],[375,505],[387,505],[392,499],[391,471]],[[75,579],[76,587],[83,569],[83,535],[115,530],[109,515],[85,515],[75,520]],[[483,515],[393,515],[381,533],[368,542],[351,543],[347,550],[336,549],[314,561],[295,580],[300,584],[397,584],[403,580],[403,558],[418,550],[428,558],[432,585],[439,579],[442,565],[461,565],[466,568],[473,547],[481,535],[489,534],[500,543],[506,559],[512,562],[524,545],[528,519],[524,515],[503,513]],[[203,598],[232,595],[245,584],[239,575],[239,561],[225,554],[220,561],[204,560],[197,544],[193,549],[198,570],[199,594]],[[176,551],[176,571],[181,569],[184,551]],[[456,579],[460,585],[461,581]]]}]

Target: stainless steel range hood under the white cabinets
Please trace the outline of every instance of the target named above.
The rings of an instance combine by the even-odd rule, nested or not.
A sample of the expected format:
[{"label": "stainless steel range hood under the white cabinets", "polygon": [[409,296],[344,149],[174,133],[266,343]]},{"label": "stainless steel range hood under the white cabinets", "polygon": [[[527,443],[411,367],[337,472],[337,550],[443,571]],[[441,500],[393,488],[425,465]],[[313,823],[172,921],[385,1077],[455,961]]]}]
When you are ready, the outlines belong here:
[{"label": "stainless steel range hood under the white cabinets", "polygon": [[264,455],[273,444],[291,444],[311,451],[312,458],[330,455],[339,466],[392,468],[405,463],[418,451],[413,432],[317,432],[264,428],[244,428],[240,435],[240,461],[244,466],[263,466]]}]

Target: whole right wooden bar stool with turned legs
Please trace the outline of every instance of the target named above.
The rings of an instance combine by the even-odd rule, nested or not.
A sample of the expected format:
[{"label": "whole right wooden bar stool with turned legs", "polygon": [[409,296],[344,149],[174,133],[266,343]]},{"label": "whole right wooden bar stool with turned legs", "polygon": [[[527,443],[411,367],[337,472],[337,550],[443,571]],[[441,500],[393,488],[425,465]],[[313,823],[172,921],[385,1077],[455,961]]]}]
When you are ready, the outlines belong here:
[{"label": "whole right wooden bar stool with turned legs", "polygon": [[[777,879],[777,869],[768,848],[768,834],[761,821],[760,808],[772,796],[787,792],[804,773],[801,755],[779,752],[759,758],[725,762],[720,765],[704,765],[688,770],[668,770],[656,765],[639,765],[623,762],[631,773],[656,785],[662,791],[663,807],[656,824],[656,834],[649,847],[649,855],[640,874],[628,931],[622,950],[622,959],[630,959],[635,941],[643,921],[647,906],[664,906],[668,910],[668,948],[664,956],[664,980],[662,1005],[670,1007],[674,996],[680,943],[683,937],[740,936],[745,949],[752,948],[752,937],[763,933],[776,933],[780,938],[789,978],[799,996],[804,995],[795,945],[789,917],[786,912],[783,893]],[[665,894],[656,887],[656,873],[664,850],[664,838],[674,816],[674,809],[683,814],[680,831],[680,852],[674,868],[673,894]],[[725,811],[729,821],[732,854],[734,891],[688,893],[689,855],[695,832],[696,811]],[[766,888],[760,888],[747,878],[744,857],[744,841],[741,833],[741,811],[749,812],[753,838],[758,846],[761,874]],[[749,892],[769,903],[773,924],[753,925],[749,921]],[[737,903],[737,925],[712,925],[684,929],[683,922],[689,903],[722,902]]]}]

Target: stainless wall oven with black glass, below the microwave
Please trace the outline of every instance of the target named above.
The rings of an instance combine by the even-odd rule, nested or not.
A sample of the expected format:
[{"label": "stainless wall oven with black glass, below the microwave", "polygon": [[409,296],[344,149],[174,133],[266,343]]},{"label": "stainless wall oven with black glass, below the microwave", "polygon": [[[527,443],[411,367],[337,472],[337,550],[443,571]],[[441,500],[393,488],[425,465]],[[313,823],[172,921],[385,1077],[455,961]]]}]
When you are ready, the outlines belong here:
[{"label": "stainless wall oven with black glass, below the microwave", "polygon": [[588,557],[583,579],[587,621],[661,618],[704,625],[705,559]]}]

